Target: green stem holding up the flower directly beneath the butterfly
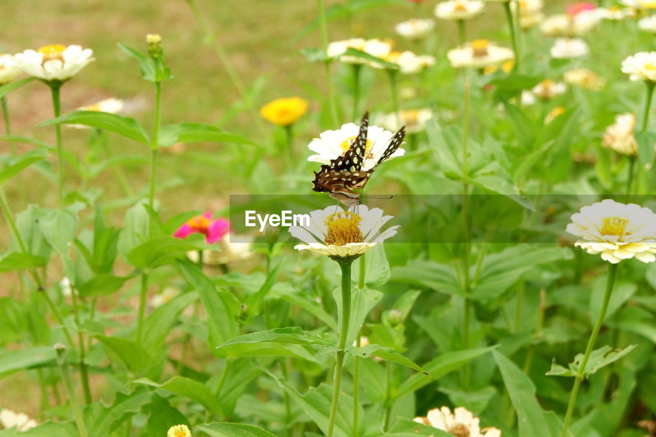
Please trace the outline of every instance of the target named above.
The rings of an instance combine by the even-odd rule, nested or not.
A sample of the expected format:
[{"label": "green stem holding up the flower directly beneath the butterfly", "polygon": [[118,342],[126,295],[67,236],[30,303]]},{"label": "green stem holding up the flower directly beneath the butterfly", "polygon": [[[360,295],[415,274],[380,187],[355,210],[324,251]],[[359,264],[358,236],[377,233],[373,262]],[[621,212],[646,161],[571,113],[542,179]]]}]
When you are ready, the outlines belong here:
[{"label": "green stem holding up the flower directly beneath the butterfly", "polygon": [[330,407],[330,417],[328,419],[327,437],[333,436],[335,428],[335,417],[337,415],[337,405],[339,400],[339,388],[342,383],[342,367],[344,367],[344,348],[346,346],[346,337],[348,337],[348,323],[351,320],[351,264],[353,260],[342,260],[339,266],[342,269],[342,314],[339,318],[339,350],[335,354],[335,376],[333,380],[333,402]]}]

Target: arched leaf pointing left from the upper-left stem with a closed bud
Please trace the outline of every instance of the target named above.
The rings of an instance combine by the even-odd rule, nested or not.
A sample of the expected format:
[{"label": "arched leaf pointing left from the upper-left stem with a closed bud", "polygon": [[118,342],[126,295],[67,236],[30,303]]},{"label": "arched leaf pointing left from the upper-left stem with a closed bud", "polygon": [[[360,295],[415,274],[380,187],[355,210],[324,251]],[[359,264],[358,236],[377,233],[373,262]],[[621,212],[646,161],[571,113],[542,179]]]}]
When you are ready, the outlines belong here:
[{"label": "arched leaf pointing left from the upper-left stem with a closed bud", "polygon": [[144,131],[144,128],[139,122],[132,117],[123,117],[100,111],[75,111],[62,115],[61,117],[43,121],[39,123],[39,126],[58,124],[91,126],[150,146],[148,134],[146,134],[146,131]]}]

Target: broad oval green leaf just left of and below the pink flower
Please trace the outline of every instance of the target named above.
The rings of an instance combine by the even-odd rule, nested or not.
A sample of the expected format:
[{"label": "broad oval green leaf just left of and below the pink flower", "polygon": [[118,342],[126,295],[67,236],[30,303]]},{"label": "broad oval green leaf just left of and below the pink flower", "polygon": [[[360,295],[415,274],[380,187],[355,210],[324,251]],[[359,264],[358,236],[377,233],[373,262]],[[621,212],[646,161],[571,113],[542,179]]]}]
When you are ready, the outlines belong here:
[{"label": "broad oval green leaf just left of and below the pink flower", "polygon": [[187,252],[197,250],[180,238],[162,236],[144,241],[127,254],[127,260],[136,268],[155,268],[168,264]]}]

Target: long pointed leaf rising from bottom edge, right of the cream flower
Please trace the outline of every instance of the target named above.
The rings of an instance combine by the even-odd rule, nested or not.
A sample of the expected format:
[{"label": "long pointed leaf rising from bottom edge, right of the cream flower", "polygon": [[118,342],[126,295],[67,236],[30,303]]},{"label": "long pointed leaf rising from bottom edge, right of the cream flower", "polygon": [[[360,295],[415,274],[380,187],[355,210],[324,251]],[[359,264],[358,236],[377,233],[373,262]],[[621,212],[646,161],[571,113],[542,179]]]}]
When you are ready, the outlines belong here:
[{"label": "long pointed leaf rising from bottom edge, right of the cream flower", "polygon": [[506,385],[512,406],[517,411],[520,436],[554,437],[560,434],[562,424],[554,413],[545,413],[535,399],[535,385],[522,370],[506,356],[492,351],[503,383]]}]

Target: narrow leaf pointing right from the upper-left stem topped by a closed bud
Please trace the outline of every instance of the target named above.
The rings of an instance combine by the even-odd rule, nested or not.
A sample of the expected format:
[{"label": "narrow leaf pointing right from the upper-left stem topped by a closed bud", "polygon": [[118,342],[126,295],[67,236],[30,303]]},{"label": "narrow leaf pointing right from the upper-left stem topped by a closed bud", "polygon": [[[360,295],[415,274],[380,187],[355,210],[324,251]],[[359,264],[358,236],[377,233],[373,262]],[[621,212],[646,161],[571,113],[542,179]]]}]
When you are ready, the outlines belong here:
[{"label": "narrow leaf pointing right from the upper-left stem topped by a closed bud", "polygon": [[178,123],[162,126],[157,136],[159,146],[173,146],[188,142],[230,142],[237,144],[254,144],[241,135],[224,132],[218,127],[203,123]]}]

